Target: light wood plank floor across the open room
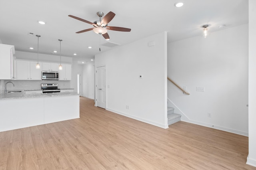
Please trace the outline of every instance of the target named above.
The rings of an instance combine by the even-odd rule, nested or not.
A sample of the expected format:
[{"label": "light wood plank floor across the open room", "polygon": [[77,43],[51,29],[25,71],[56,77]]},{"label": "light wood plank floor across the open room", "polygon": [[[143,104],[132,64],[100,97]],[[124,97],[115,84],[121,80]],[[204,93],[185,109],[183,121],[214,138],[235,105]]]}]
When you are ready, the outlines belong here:
[{"label": "light wood plank floor across the open room", "polygon": [[0,170],[256,169],[247,155],[248,137],[185,122],[162,129],[84,97],[80,119],[0,132]]}]

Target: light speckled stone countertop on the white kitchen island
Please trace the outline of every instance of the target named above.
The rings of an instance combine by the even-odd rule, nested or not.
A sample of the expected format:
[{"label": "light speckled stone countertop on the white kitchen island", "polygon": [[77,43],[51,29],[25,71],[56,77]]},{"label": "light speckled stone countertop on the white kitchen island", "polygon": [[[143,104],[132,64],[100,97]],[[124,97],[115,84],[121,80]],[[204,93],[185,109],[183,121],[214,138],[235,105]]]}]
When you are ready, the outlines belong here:
[{"label": "light speckled stone countertop on the white kitchen island", "polygon": [[[18,91],[18,90],[13,90]],[[8,92],[8,91],[7,91]],[[23,99],[23,98],[33,98],[33,97],[53,97],[53,96],[66,96],[66,95],[79,95],[76,92],[62,92],[62,93],[44,93],[44,94],[26,94],[24,91],[16,93],[0,93],[1,99]]]}]

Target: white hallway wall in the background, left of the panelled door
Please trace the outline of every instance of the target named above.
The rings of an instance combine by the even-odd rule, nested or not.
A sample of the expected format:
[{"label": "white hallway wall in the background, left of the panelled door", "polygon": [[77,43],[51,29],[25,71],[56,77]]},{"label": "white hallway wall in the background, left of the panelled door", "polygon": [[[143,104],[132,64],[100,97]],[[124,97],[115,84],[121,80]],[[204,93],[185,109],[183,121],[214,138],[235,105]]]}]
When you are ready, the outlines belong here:
[{"label": "white hallway wall in the background, left of the panelled door", "polygon": [[94,99],[94,63],[83,65],[82,96]]}]

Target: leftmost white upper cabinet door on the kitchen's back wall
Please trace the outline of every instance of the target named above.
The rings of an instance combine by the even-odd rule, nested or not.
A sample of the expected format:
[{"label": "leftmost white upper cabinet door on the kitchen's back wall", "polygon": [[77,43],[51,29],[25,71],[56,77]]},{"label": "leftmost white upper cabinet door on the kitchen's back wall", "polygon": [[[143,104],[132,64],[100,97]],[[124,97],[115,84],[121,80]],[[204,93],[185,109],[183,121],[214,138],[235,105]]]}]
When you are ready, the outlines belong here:
[{"label": "leftmost white upper cabinet door on the kitchen's back wall", "polygon": [[17,80],[30,79],[30,61],[17,60]]}]

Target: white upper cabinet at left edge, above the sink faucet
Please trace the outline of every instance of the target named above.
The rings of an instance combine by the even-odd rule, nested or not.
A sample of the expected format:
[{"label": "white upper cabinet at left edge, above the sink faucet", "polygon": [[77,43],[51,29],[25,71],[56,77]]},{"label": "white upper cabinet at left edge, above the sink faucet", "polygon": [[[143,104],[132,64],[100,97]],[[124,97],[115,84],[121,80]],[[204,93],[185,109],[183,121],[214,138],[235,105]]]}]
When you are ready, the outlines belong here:
[{"label": "white upper cabinet at left edge, above the sink faucet", "polygon": [[0,44],[0,79],[14,79],[14,45]]}]

